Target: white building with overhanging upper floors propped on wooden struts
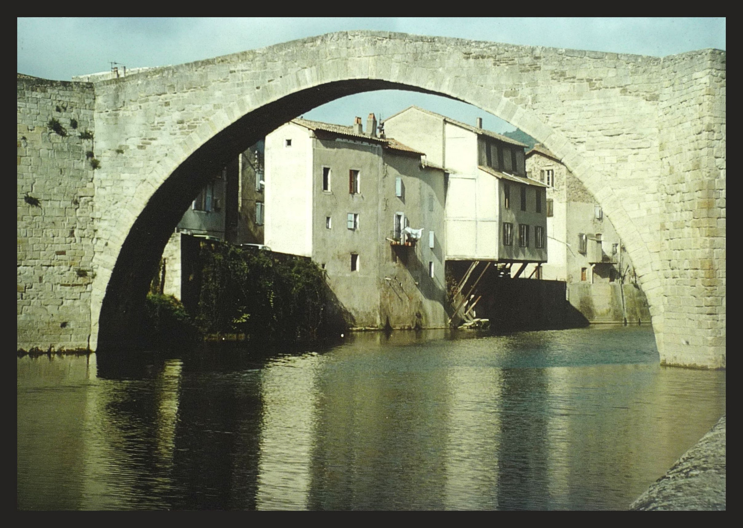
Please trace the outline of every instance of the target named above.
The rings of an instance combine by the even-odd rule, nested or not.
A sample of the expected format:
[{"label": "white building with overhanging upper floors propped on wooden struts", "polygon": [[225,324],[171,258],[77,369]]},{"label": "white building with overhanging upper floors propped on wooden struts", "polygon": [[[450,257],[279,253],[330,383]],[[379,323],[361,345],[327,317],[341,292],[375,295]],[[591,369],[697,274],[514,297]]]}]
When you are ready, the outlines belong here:
[{"label": "white building with overhanging upper floors propped on wooden struts", "polygon": [[447,261],[547,261],[546,186],[526,177],[526,145],[416,106],[384,129],[448,173]]}]

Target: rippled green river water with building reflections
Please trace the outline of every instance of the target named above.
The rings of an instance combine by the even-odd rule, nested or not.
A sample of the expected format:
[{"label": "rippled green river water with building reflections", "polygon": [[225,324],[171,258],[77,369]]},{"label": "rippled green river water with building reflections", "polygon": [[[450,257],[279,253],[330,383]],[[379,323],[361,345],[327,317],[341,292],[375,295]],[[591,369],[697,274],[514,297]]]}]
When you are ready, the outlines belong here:
[{"label": "rippled green river water with building reflections", "polygon": [[18,509],[626,509],[725,412],[649,326],[17,365]]}]

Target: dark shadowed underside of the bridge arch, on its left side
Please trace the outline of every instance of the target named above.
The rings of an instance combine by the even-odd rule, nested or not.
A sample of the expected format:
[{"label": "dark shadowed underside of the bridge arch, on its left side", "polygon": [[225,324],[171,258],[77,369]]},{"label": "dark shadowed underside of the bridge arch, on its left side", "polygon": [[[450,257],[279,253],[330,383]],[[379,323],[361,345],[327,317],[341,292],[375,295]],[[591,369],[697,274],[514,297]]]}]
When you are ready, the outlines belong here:
[{"label": "dark shadowed underside of the bridge arch, on its left side", "polygon": [[407,90],[458,100],[417,86],[380,79],[348,79],[306,88],[256,108],[216,133],[196,149],[152,194],[126,235],[106,285],[98,319],[97,352],[137,351],[144,343],[143,305],[160,256],[190,203],[220,171],[266,134],[312,108],[353,94],[376,90]]}]

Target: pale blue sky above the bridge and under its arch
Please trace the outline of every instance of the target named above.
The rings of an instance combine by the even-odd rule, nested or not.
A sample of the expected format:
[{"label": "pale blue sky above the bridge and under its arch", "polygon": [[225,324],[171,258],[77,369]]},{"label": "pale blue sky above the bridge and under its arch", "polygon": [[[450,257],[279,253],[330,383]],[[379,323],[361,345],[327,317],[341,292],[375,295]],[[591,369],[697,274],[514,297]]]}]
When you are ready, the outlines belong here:
[{"label": "pale blue sky above the bridge and under its arch", "polygon": [[[383,30],[506,44],[666,56],[725,49],[718,18],[19,18],[18,72],[54,80],[126,68],[178,65],[346,30]],[[410,91],[375,91],[329,102],[311,120],[350,125],[418,105],[484,128],[513,126],[464,102]],[[366,120],[364,120],[366,122]]]}]

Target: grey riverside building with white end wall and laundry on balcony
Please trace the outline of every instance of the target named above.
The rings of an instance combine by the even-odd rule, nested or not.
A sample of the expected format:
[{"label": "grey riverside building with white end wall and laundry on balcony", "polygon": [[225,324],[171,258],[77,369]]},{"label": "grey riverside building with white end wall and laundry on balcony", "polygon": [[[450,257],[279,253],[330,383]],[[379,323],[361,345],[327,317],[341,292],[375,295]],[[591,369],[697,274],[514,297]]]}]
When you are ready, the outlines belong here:
[{"label": "grey riverside building with white end wall and laundry on balcony", "polygon": [[304,255],[356,327],[444,327],[444,171],[353,126],[291,120],[265,143],[265,244]]}]

